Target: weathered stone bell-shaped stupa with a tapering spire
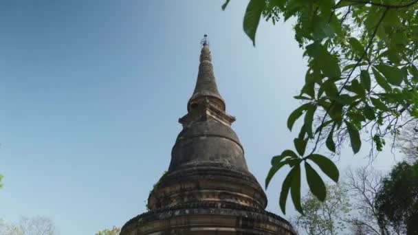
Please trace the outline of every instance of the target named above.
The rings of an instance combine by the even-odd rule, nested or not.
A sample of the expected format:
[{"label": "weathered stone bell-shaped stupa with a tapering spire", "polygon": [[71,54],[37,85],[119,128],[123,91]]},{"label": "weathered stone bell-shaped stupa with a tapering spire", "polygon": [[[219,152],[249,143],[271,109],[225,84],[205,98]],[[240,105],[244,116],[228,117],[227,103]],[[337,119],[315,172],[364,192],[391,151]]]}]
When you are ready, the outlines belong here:
[{"label": "weathered stone bell-shaped stupa with a tapering spire", "polygon": [[265,211],[267,197],[231,128],[235,118],[225,112],[208,44],[205,35],[168,171],[149,195],[149,211],[126,222],[121,235],[296,234],[285,219]]}]

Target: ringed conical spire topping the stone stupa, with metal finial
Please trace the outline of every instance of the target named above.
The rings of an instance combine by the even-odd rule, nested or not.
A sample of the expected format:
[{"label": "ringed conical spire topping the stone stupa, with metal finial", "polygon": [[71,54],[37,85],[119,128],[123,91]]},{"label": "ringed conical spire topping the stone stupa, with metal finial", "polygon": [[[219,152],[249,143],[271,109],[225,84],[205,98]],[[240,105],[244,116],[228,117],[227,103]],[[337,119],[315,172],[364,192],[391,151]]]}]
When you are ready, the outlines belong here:
[{"label": "ringed conical spire topping the stone stupa, with metal finial", "polygon": [[225,102],[219,94],[217,82],[214,78],[212,56],[209,49],[208,35],[205,34],[201,40],[200,65],[195,91],[188,101],[187,109],[191,111],[199,105],[201,100],[208,98],[213,104],[225,111]]}]

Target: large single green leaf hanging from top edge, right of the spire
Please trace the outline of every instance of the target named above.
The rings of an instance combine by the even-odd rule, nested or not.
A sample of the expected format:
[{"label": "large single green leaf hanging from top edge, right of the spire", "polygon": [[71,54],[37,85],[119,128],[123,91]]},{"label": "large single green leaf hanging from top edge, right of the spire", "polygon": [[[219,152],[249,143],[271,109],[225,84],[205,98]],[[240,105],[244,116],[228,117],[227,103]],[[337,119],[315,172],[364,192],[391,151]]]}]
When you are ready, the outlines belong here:
[{"label": "large single green leaf hanging from top edge, right of the spire", "polygon": [[261,13],[265,8],[264,0],[250,0],[248,3],[247,10],[244,15],[244,32],[247,34],[251,41],[252,45],[256,45],[256,32],[257,27],[259,27],[259,22],[261,18]]}]

